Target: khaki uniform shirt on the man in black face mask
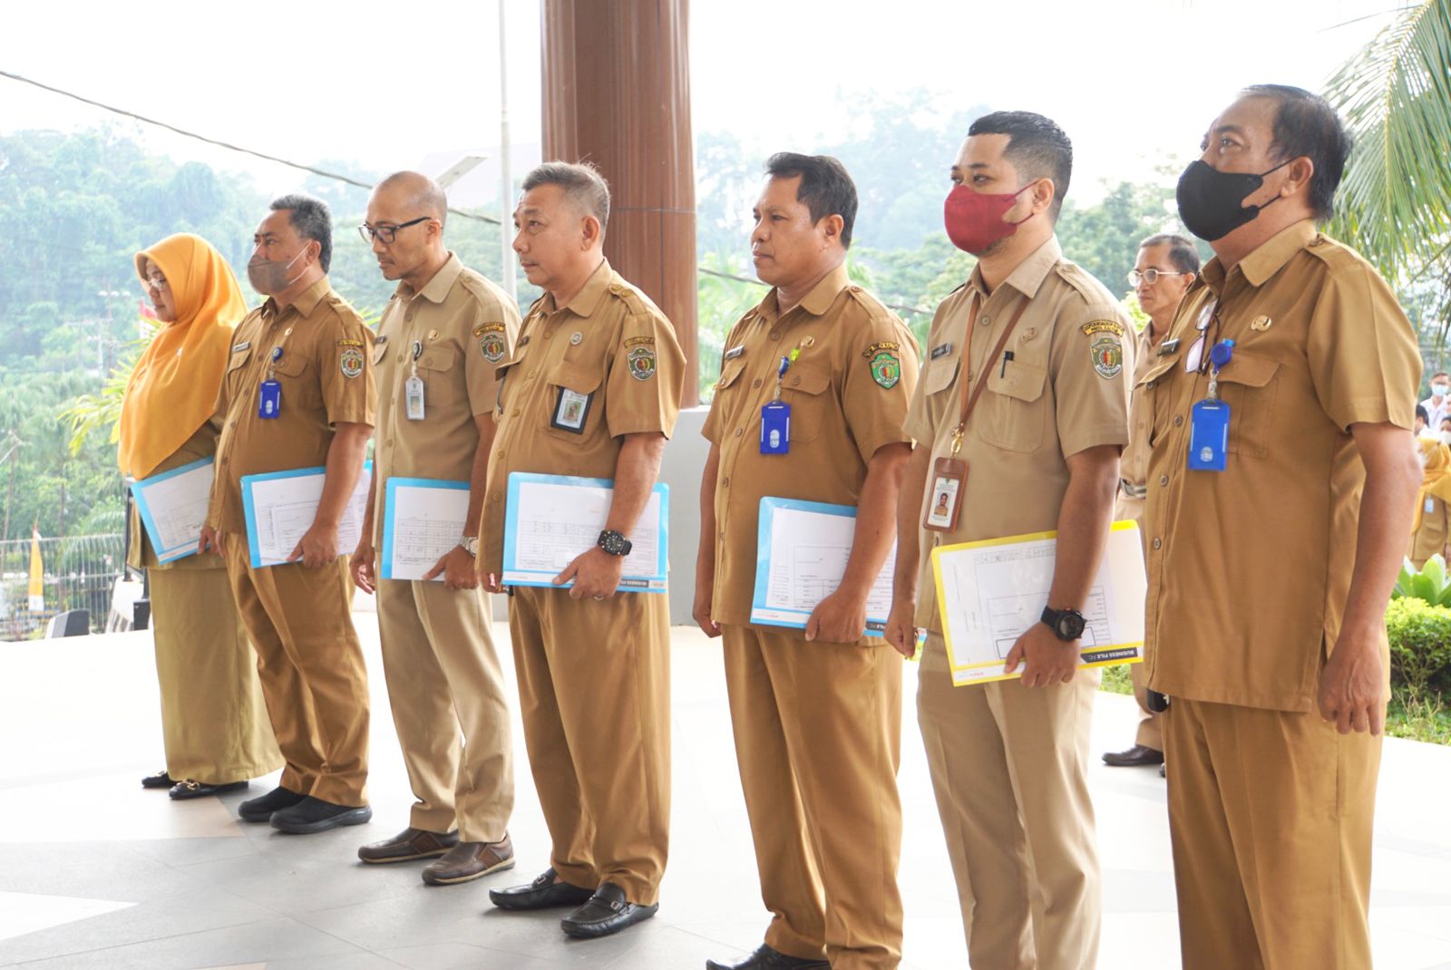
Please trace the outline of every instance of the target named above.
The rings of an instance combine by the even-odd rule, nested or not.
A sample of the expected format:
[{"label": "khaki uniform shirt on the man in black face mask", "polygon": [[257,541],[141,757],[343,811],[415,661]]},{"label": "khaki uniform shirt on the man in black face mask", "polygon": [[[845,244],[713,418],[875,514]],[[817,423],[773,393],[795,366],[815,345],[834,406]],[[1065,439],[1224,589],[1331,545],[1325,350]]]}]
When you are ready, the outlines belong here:
[{"label": "khaki uniform shirt on the man in black face mask", "polygon": [[[1230,409],[1225,471],[1187,468],[1190,409],[1209,378],[1184,360],[1201,319],[1207,344],[1236,342],[1219,374]],[[1154,448],[1145,648],[1155,690],[1313,709],[1349,593],[1365,483],[1348,429],[1409,429],[1419,381],[1416,338],[1390,287],[1309,219],[1228,273],[1219,260],[1204,267],[1139,378]]]}]

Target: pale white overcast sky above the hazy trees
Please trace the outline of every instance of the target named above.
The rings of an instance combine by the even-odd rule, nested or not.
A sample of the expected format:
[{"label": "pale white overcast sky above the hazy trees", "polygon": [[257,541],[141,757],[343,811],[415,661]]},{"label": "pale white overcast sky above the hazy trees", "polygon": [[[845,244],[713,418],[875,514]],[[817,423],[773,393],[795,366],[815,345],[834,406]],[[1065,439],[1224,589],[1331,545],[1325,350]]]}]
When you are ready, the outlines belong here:
[{"label": "pale white overcast sky above the hazy trees", "polygon": [[[514,141],[537,146],[540,3],[503,1]],[[763,154],[810,151],[840,132],[855,100],[924,87],[945,110],[991,104],[1055,117],[1075,145],[1074,194],[1087,200],[1100,180],[1143,178],[1197,154],[1210,119],[1245,84],[1319,88],[1397,6],[694,0],[694,122],[733,130]],[[86,0],[9,4],[4,20],[0,70],[267,154],[431,174],[470,151],[496,154],[496,0]],[[0,132],[107,117],[0,78]],[[302,180],[149,126],[135,130],[177,159],[245,170],[264,191]],[[492,197],[490,168],[460,188]]]}]

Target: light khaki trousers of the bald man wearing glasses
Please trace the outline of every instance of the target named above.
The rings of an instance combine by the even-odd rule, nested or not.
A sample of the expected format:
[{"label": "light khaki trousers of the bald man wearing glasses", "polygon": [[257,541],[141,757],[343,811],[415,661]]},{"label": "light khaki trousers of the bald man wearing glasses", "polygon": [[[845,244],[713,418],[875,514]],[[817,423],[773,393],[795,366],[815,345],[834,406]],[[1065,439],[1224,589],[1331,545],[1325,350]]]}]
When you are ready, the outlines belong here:
[{"label": "light khaki trousers of the bald man wearing glasses", "polygon": [[486,594],[379,580],[377,629],[418,799],[408,824],[451,832],[457,822],[466,842],[501,841],[514,812],[514,750]]}]

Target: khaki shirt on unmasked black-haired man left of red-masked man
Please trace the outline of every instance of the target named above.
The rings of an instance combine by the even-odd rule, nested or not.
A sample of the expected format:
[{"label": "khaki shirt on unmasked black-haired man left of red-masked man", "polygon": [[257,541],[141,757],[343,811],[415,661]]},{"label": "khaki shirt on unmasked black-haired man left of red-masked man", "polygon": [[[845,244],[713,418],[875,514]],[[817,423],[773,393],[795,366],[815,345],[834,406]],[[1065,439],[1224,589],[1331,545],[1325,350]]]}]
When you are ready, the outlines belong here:
[{"label": "khaki shirt on unmasked black-haired man left of red-masked man", "polygon": [[[760,407],[776,394],[781,358],[800,349],[781,381],[791,406],[789,451],[760,454]],[[785,315],[776,290],[726,338],[721,378],[705,419],[720,447],[715,478],[715,592],[720,623],[750,622],[760,499],[858,505],[866,465],[903,434],[917,386],[917,342],[903,322],[840,267]]]}]

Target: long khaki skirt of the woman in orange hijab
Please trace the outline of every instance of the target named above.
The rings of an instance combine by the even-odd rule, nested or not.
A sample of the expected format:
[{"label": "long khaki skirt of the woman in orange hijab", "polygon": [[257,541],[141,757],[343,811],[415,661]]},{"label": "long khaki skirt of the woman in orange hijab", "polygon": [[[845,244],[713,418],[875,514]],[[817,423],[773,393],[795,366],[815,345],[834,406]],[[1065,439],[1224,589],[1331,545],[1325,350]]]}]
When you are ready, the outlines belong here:
[{"label": "long khaki skirt of the woman in orange hijab", "polygon": [[148,570],[167,774],[228,784],[283,766],[226,570]]}]

